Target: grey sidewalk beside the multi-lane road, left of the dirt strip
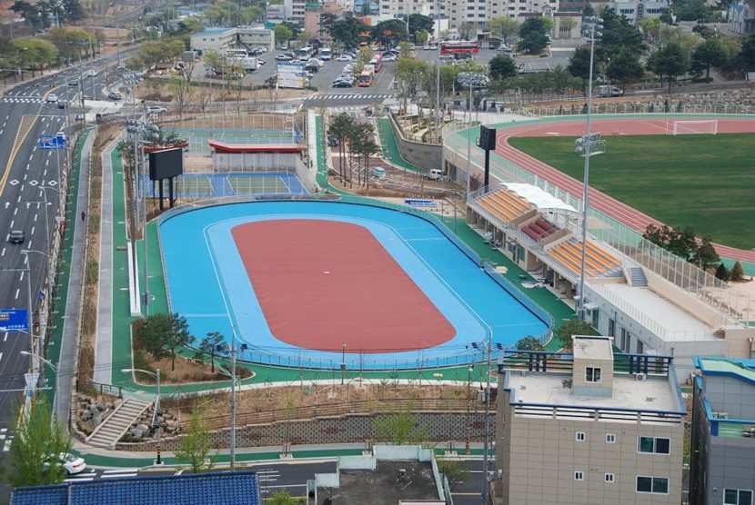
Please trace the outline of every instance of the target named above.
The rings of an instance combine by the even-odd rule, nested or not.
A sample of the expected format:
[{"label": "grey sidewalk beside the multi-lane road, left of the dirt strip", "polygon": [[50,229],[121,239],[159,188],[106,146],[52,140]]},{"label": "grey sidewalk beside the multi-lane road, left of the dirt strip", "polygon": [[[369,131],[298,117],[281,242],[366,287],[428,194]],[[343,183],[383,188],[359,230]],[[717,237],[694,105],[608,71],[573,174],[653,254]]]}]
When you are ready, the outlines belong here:
[{"label": "grey sidewalk beside the multi-lane road, left of the dirt strip", "polygon": [[74,201],[76,208],[72,209],[72,216],[66,216],[68,223],[73,225],[74,230],[71,241],[70,260],[63,264],[63,268],[68,269],[69,276],[65,296],[65,316],[60,342],[60,356],[55,378],[55,415],[59,420],[67,420],[71,411],[71,394],[74,381],[72,369],[73,364],[76,362],[76,337],[79,329],[82,287],[84,286],[86,270],[84,265],[86,226],[78,219],[78,216],[86,211],[89,204],[89,163],[95,136],[95,133],[92,131],[86,133],[86,142],[78,160],[76,160],[75,156],[74,163],[76,161],[79,162],[78,181],[74,184],[74,187],[77,188],[76,199]]}]

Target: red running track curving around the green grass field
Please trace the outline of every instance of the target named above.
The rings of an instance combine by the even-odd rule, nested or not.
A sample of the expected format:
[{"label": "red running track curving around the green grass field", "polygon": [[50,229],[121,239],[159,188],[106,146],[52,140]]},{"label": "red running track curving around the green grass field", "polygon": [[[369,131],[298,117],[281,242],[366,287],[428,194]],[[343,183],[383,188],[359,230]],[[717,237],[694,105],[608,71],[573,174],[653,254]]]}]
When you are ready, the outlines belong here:
[{"label": "red running track curving around the green grass field", "polygon": [[[696,118],[685,118],[694,120]],[[710,118],[698,118],[710,119]],[[673,132],[673,120],[671,119],[595,119],[593,120],[593,132],[601,132],[604,135],[653,135],[669,134]],[[721,134],[750,134],[755,133],[755,121],[749,119],[719,119],[719,133]],[[580,136],[585,134],[585,122],[559,121],[550,124],[523,124],[504,130],[498,130],[498,143],[496,153],[504,158],[517,163],[529,172],[540,178],[554,183],[559,188],[581,199],[582,183],[577,179],[562,173],[548,163],[543,163],[526,153],[522,153],[508,144],[510,137],[547,137],[550,135]],[[590,189],[590,205],[602,213],[626,224],[639,233],[644,233],[648,224],[662,224],[648,214],[629,207],[626,203],[610,197],[596,189]],[[728,245],[716,243],[716,251],[721,256],[744,262],[755,262],[755,251],[737,249]]]}]

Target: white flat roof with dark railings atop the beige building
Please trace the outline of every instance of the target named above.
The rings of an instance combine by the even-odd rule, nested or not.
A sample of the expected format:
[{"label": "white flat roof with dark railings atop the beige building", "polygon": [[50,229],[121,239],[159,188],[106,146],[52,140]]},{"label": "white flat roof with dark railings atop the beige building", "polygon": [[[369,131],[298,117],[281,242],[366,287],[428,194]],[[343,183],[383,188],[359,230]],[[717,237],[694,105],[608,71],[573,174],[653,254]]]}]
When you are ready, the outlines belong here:
[{"label": "white flat roof with dark railings atop the beige building", "polygon": [[[585,346],[579,341],[593,342]],[[599,342],[599,343],[598,343]],[[610,340],[579,339],[574,354],[556,352],[505,351],[498,360],[498,371],[505,373],[504,388],[510,403],[588,411],[623,411],[628,421],[636,414],[684,414],[672,358],[647,354],[613,353]],[[572,389],[572,371],[578,359],[605,359],[612,355],[613,380],[610,394],[589,395]],[[611,358],[609,357],[609,360]],[[603,376],[606,376],[604,372]],[[579,416],[578,416],[579,417]],[[619,418],[616,418],[619,421]]]}]

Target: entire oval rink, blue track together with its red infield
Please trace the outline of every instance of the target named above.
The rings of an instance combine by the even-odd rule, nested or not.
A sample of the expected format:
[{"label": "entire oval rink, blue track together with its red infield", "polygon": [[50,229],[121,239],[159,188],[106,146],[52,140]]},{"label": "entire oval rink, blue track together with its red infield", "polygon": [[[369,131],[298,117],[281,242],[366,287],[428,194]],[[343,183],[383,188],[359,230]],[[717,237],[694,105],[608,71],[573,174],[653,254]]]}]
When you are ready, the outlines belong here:
[{"label": "entire oval rink, blue track together with its red infield", "polygon": [[[548,333],[438,225],[332,201],[233,203],[160,224],[171,311],[221,332],[242,359],[401,369],[480,361]],[[190,274],[188,274],[190,272]]]}]

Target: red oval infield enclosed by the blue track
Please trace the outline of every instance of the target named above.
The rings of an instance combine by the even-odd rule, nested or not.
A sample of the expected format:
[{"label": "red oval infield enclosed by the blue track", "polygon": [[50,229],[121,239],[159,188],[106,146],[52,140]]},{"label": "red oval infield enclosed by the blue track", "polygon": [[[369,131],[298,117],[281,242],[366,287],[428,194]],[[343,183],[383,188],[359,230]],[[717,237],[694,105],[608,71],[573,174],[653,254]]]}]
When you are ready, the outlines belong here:
[{"label": "red oval infield enclosed by the blue track", "polygon": [[318,351],[413,351],[453,326],[367,228],[287,219],[232,230],[270,331]]}]

